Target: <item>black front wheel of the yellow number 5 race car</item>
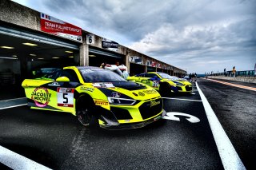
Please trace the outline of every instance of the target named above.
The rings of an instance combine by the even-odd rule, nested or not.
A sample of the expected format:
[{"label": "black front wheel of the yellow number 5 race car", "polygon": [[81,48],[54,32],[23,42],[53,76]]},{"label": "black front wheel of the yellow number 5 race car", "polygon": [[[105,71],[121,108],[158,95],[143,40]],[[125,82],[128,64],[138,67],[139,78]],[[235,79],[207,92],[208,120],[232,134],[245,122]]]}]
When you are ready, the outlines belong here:
[{"label": "black front wheel of the yellow number 5 race car", "polygon": [[[98,118],[94,114],[95,105],[92,102],[80,102],[78,101],[78,107],[76,109],[76,115],[78,117],[78,121],[86,127],[97,127],[98,126]],[[83,105],[82,105],[83,104]]]}]

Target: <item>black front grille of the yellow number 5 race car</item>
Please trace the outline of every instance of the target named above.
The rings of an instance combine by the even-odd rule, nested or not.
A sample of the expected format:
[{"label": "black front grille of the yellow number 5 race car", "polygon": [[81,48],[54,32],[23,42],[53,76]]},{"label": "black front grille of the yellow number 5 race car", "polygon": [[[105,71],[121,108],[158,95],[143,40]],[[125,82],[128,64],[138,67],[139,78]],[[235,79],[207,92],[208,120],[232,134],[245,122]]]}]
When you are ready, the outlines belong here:
[{"label": "black front grille of the yellow number 5 race car", "polygon": [[142,119],[154,117],[162,111],[162,98],[154,101],[147,101],[146,103],[142,104],[138,109],[142,115]]}]

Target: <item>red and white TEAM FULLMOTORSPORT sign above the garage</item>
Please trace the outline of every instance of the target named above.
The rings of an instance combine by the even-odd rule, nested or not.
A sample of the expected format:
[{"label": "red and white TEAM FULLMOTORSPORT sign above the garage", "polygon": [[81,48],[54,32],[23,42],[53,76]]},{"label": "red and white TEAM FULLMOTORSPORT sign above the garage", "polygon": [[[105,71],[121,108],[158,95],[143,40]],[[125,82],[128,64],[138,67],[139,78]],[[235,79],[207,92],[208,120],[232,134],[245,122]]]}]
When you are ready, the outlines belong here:
[{"label": "red and white TEAM FULLMOTORSPORT sign above the garage", "polygon": [[70,23],[63,22],[57,18],[51,17],[50,15],[41,13],[41,30],[58,35],[62,38],[69,38],[74,41],[82,42],[82,29],[78,26],[74,26]]}]

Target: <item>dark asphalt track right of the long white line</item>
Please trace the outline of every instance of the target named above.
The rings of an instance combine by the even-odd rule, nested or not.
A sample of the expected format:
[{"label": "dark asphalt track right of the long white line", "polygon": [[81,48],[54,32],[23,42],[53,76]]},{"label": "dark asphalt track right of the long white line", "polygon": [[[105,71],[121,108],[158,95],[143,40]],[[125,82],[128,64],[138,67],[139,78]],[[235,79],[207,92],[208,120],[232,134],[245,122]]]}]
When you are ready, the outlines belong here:
[{"label": "dark asphalt track right of the long white line", "polygon": [[[244,82],[227,82],[256,86]],[[246,169],[256,169],[256,92],[204,79],[199,79],[198,85]]]}]

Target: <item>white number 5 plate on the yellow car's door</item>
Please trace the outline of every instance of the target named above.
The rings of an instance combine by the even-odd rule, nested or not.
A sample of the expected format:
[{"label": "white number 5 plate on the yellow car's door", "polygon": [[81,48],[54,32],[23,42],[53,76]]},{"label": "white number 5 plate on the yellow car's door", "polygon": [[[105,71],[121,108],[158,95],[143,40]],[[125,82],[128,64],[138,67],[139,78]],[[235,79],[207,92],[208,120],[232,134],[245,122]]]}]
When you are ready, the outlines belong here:
[{"label": "white number 5 plate on the yellow car's door", "polygon": [[59,88],[57,89],[57,105],[61,107],[74,107],[74,89]]}]

